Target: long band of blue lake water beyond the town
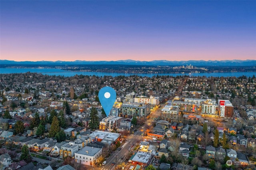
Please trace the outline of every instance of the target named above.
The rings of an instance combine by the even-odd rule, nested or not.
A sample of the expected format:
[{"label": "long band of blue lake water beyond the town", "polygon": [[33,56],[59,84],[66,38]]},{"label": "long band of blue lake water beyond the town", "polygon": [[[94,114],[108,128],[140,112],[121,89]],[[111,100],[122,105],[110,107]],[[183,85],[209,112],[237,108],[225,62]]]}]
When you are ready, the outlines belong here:
[{"label": "long band of blue lake water beyond the town", "polygon": [[74,75],[96,75],[99,77],[103,77],[105,75],[110,75],[112,77],[116,77],[119,75],[130,76],[130,75],[138,75],[142,77],[153,77],[154,75],[170,75],[170,76],[178,76],[178,75],[189,75],[191,76],[206,76],[206,77],[240,77],[245,75],[246,77],[256,76],[256,72],[228,72],[228,73],[105,73],[105,72],[85,72],[85,71],[66,71],[62,69],[56,68],[0,68],[1,74],[9,74],[9,73],[42,73],[44,75],[61,75],[65,77],[72,77]]}]

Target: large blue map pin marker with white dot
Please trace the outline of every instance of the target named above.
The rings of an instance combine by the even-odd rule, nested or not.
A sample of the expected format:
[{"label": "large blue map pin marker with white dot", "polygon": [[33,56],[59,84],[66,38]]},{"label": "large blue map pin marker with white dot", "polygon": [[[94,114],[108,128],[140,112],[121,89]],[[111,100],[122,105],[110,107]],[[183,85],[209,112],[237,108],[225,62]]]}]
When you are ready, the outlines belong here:
[{"label": "large blue map pin marker with white dot", "polygon": [[103,87],[100,89],[98,97],[100,99],[100,104],[104,109],[107,117],[116,101],[116,91],[112,87]]}]

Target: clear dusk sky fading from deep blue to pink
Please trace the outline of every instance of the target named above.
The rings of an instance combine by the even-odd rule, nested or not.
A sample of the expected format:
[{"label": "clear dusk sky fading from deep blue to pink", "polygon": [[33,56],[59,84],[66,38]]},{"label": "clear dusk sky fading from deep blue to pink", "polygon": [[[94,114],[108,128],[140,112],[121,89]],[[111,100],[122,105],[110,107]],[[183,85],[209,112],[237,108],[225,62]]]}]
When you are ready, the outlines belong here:
[{"label": "clear dusk sky fading from deep blue to pink", "polygon": [[256,0],[0,0],[0,59],[256,59]]}]

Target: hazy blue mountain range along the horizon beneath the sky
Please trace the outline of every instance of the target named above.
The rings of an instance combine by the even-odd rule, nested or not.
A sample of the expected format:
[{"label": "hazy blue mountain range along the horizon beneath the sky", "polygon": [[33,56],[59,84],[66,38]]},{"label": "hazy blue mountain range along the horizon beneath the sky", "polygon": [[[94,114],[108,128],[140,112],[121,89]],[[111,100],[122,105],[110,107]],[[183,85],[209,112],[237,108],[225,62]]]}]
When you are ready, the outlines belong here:
[{"label": "hazy blue mountain range along the horizon beneath the sky", "polygon": [[167,61],[167,60],[154,60],[154,61],[135,61],[135,60],[118,60],[118,61],[10,61],[0,60],[0,67],[10,65],[159,65],[159,66],[181,66],[181,65],[193,65],[197,67],[256,67],[256,60],[189,60],[189,61]]}]

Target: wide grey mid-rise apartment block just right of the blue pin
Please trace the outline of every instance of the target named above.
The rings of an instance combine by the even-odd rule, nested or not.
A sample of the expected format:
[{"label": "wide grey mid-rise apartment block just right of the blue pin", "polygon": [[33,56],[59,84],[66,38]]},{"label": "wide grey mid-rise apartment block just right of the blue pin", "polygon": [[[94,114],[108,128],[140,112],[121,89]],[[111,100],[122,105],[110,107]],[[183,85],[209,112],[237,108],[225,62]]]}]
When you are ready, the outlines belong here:
[{"label": "wide grey mid-rise apartment block just right of the blue pin", "polygon": [[122,103],[120,107],[120,117],[146,117],[150,114],[150,104],[144,103]]}]

